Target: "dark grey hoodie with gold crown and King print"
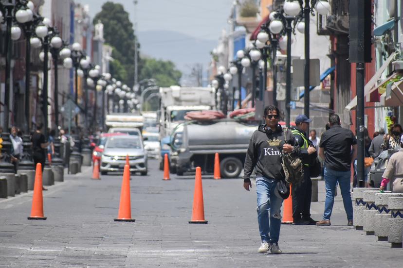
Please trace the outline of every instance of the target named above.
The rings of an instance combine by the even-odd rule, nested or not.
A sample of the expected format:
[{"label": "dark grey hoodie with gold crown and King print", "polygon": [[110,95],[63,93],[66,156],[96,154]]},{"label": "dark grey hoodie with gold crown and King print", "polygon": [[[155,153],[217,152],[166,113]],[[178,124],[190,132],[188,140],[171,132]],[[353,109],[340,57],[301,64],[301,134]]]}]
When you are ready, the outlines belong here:
[{"label": "dark grey hoodie with gold crown and King print", "polygon": [[260,125],[252,134],[245,158],[244,182],[250,181],[249,177],[254,168],[256,168],[256,178],[284,179],[281,155],[285,143],[293,146],[293,154],[299,154],[299,146],[291,130],[284,131],[278,125],[276,131],[272,131],[266,130],[265,126]]}]

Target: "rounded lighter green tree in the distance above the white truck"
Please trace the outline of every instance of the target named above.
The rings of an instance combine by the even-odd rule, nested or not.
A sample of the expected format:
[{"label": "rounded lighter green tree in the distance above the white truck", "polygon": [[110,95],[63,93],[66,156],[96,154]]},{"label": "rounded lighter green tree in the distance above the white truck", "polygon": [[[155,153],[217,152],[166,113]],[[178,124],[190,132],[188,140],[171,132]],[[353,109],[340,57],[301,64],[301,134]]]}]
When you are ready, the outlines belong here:
[{"label": "rounded lighter green tree in the distance above the white truck", "polygon": [[171,85],[180,85],[182,72],[176,69],[171,61],[156,60],[152,58],[142,59],[142,67],[139,79],[154,78],[157,86],[168,87]]}]

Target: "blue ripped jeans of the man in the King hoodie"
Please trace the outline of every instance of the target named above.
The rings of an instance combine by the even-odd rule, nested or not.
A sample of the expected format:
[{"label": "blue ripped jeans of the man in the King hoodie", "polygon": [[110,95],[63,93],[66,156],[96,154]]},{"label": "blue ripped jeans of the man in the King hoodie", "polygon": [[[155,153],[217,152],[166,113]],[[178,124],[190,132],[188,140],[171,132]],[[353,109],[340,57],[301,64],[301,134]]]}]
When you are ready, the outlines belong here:
[{"label": "blue ripped jeans of the man in the King hoodie", "polygon": [[[277,181],[256,178],[257,222],[262,241],[277,243],[281,227],[281,204],[283,199],[275,195]],[[269,218],[270,212],[270,218]]]}]

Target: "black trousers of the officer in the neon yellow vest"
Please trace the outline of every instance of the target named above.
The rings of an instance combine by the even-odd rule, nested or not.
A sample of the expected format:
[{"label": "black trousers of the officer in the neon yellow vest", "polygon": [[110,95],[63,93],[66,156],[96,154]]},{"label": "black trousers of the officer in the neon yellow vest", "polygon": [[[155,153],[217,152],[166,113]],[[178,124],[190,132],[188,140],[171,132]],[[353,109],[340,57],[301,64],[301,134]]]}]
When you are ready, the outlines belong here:
[{"label": "black trousers of the officer in the neon yellow vest", "polygon": [[311,217],[312,181],[309,167],[304,166],[304,182],[293,185],[293,218]]}]

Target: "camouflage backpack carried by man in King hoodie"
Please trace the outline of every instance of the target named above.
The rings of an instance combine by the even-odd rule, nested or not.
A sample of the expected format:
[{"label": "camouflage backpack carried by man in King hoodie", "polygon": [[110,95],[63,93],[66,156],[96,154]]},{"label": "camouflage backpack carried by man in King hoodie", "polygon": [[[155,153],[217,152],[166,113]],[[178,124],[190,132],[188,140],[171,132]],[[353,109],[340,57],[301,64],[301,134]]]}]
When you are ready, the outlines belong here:
[{"label": "camouflage backpack carried by man in King hoodie", "polygon": [[[287,142],[287,128],[283,129],[284,141]],[[283,153],[281,156],[286,182],[290,184],[300,184],[304,180],[304,165],[298,155]]]}]

